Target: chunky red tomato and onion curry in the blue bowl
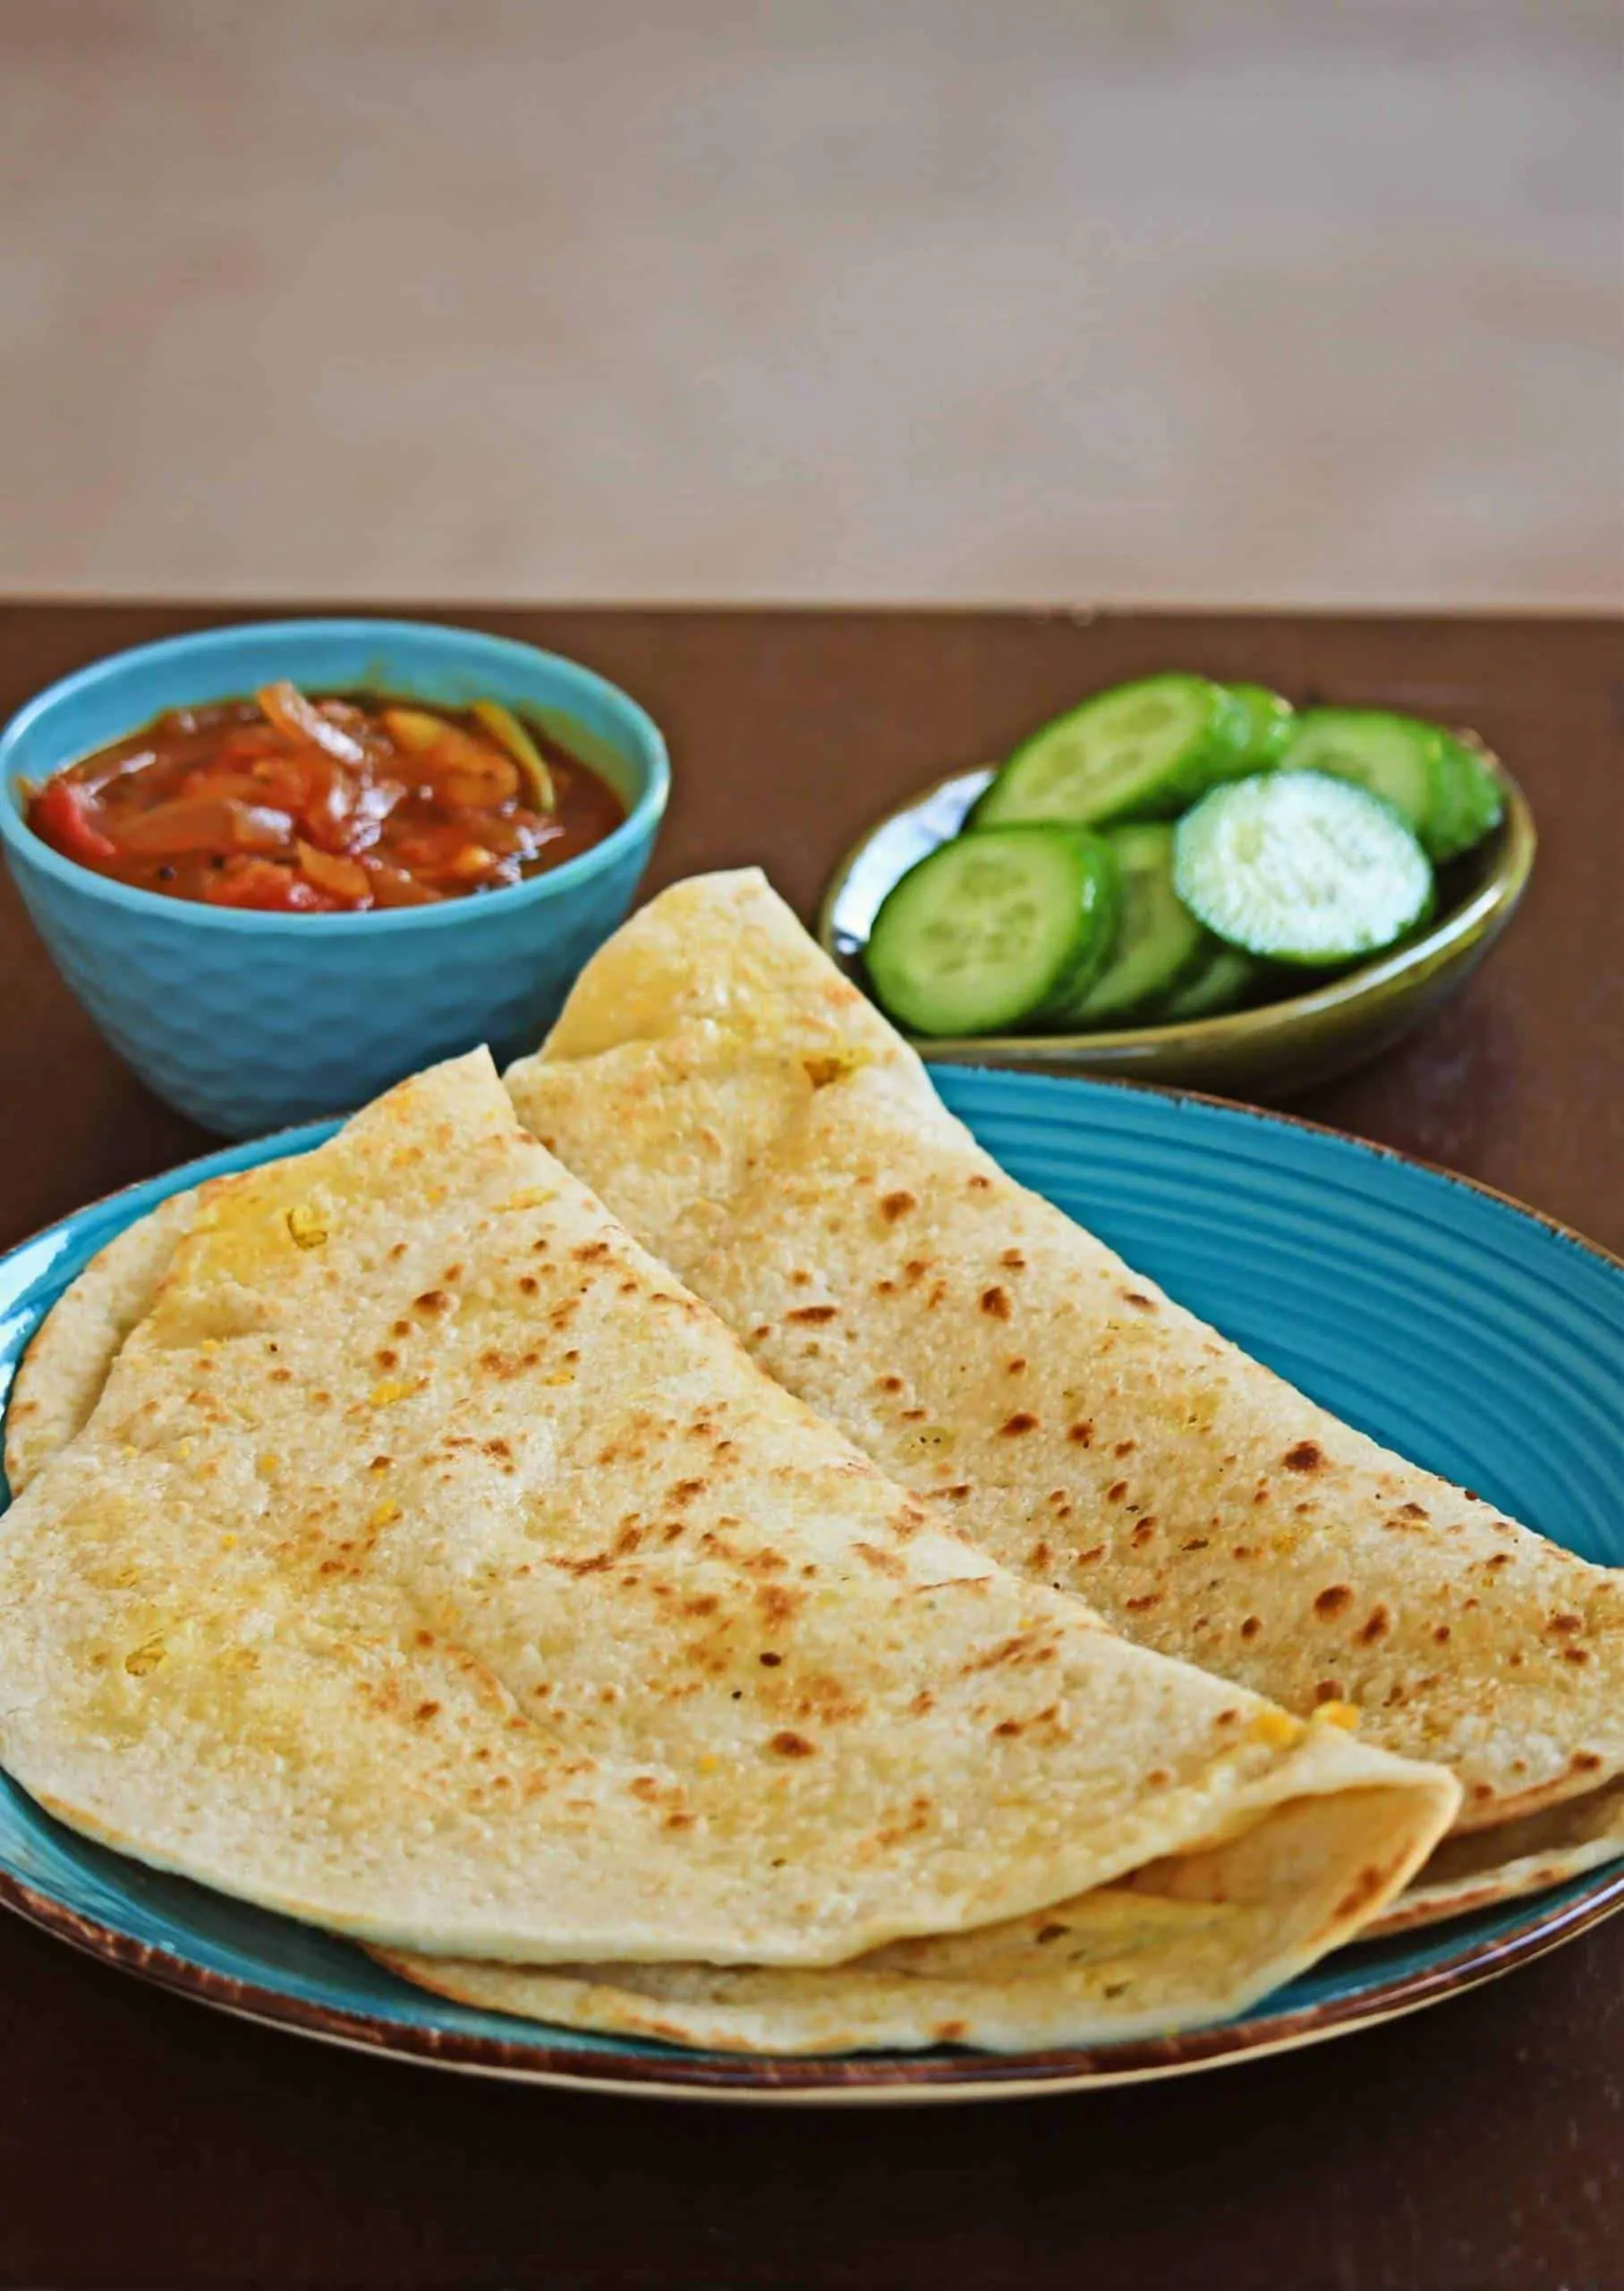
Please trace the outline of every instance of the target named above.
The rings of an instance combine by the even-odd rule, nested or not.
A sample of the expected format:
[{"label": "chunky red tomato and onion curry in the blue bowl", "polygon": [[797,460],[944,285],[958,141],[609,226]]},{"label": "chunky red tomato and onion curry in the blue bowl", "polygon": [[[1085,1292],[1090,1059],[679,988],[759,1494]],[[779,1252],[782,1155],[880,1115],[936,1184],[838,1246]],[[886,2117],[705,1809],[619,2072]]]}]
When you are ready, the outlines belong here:
[{"label": "chunky red tomato and onion curry in the blue bowl", "polygon": [[355,914],[525,882],[602,843],[618,795],[497,701],[385,694],[172,708],[27,795],[115,882],[211,907]]}]

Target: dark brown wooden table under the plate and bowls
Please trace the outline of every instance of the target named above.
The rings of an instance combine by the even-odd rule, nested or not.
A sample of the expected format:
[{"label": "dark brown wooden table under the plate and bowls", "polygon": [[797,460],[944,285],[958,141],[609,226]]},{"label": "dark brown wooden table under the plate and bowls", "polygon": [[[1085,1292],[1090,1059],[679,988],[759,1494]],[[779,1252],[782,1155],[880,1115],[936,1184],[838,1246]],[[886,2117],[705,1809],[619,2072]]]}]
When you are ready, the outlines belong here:
[{"label": "dark brown wooden table under the plate and bowls", "polygon": [[[243,614],[0,612],[0,710]],[[1459,1003],[1301,1111],[1624,1249],[1624,623],[470,612],[667,726],[651,887],[765,861],[804,912],[889,800],[1157,667],[1471,722],[1539,813]],[[0,896],[0,1244],[204,1139]],[[1420,2018],[1028,2105],[717,2112],[479,2085],[220,2018],[0,1920],[0,2284],[1585,2291],[1624,2284],[1624,1922]]]}]

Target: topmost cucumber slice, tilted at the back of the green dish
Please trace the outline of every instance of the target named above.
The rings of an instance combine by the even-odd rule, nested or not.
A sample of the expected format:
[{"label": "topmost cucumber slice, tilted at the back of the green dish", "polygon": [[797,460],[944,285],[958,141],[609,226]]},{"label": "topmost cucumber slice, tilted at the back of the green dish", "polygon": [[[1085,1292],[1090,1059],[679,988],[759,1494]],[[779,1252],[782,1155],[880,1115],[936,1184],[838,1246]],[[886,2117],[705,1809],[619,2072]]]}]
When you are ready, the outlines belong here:
[{"label": "topmost cucumber slice, tilted at the back of the green dish", "polygon": [[971,827],[1175,818],[1244,754],[1248,715],[1205,676],[1141,676],[1097,692],[1015,749]]}]

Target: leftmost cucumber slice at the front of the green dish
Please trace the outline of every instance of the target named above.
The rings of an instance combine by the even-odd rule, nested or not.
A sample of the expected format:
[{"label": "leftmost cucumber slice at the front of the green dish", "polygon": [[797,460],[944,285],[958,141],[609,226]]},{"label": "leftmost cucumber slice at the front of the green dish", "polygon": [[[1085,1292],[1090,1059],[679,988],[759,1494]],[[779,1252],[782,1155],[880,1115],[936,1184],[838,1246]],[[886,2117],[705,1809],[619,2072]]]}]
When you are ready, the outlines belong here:
[{"label": "leftmost cucumber slice at the front of the green dish", "polygon": [[868,978],[912,1033],[1001,1033],[1093,978],[1115,928],[1115,861],[1079,827],[994,827],[937,845],[886,893]]}]

